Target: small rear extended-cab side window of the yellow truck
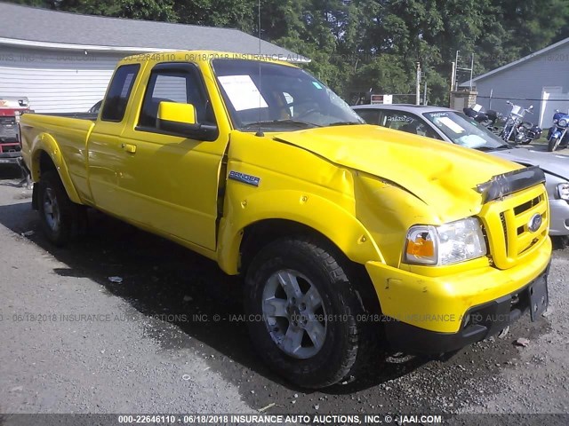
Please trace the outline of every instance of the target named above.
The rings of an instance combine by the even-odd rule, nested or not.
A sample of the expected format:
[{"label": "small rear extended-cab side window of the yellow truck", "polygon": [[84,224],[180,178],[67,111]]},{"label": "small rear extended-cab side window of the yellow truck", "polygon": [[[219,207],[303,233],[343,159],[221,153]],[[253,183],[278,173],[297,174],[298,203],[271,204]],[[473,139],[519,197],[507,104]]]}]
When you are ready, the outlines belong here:
[{"label": "small rear extended-cab side window of the yellow truck", "polygon": [[131,96],[132,86],[138,75],[140,64],[123,65],[116,68],[113,81],[108,88],[107,98],[100,119],[106,122],[120,122],[124,118],[126,104]]}]

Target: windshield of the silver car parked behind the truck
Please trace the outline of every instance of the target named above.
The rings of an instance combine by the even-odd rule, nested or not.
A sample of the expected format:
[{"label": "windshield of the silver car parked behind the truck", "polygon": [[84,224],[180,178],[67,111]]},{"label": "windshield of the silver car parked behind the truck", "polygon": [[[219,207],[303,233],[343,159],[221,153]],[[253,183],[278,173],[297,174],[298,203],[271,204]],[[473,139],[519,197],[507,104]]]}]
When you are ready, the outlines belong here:
[{"label": "windshield of the silver car parked behind the truck", "polygon": [[475,148],[480,151],[492,151],[509,147],[501,138],[494,135],[492,131],[465,114],[455,113],[454,111],[441,111],[423,115],[456,145]]}]

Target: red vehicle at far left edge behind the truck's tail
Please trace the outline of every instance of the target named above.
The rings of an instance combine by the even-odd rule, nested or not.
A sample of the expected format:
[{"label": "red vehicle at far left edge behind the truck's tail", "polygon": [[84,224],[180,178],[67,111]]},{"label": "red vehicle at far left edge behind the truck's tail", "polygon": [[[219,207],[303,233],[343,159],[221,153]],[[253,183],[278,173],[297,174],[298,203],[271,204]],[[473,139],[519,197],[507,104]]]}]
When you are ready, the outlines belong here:
[{"label": "red vehicle at far left edge behind the truck's tail", "polygon": [[20,164],[20,114],[29,111],[26,97],[0,97],[0,164]]}]

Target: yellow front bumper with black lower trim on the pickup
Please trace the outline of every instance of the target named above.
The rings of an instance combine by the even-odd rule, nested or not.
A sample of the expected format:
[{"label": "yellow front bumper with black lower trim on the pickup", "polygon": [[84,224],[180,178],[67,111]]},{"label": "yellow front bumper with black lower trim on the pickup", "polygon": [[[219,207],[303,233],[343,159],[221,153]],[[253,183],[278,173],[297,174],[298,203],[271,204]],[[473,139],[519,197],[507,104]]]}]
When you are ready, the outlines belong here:
[{"label": "yellow front bumper with black lower trim on the pickup", "polygon": [[[402,351],[442,353],[507,327],[530,306],[530,289],[545,292],[546,306],[540,306],[541,313],[548,303],[550,254],[547,238],[532,256],[505,270],[474,267],[474,261],[436,277],[379,262],[368,262],[366,269],[381,304],[389,343]],[[489,319],[477,320],[479,315]],[[533,312],[532,316],[539,315]]]}]

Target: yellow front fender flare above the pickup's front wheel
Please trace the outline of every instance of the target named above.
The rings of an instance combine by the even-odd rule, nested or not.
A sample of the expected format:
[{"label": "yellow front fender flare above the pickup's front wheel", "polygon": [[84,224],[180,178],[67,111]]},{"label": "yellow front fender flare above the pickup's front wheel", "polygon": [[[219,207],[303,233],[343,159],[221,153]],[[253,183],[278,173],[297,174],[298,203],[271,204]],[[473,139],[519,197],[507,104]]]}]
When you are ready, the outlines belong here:
[{"label": "yellow front fender flare above the pickup's front wheel", "polygon": [[273,191],[254,194],[246,208],[242,202],[235,204],[228,209],[230,220],[221,221],[218,242],[218,263],[229,274],[244,272],[255,248],[291,234],[319,236],[356,264],[384,262],[380,248],[357,217],[323,197]]}]

